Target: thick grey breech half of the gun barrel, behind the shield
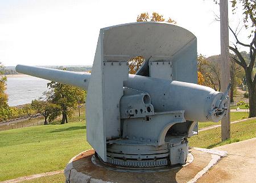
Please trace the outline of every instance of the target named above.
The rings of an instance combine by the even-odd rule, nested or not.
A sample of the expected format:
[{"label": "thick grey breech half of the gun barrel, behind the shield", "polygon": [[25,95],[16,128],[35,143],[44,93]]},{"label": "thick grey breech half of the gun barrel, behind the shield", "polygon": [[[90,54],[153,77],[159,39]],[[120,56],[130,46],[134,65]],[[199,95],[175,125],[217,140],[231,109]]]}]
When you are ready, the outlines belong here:
[{"label": "thick grey breech half of the gun barrel, behind the shield", "polygon": [[149,93],[155,112],[185,110],[185,119],[189,121],[218,122],[224,116],[214,115],[216,112],[208,116],[220,107],[218,102],[223,95],[209,87],[139,75],[129,75],[124,86]]}]

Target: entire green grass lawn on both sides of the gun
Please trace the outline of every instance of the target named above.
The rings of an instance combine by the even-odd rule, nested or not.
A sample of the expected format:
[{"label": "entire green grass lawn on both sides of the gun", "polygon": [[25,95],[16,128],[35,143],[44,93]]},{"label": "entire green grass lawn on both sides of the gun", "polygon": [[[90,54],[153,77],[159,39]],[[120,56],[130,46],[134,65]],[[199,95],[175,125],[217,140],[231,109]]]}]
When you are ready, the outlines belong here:
[{"label": "entire green grass lawn on both sides of the gun", "polygon": [[[232,121],[240,120],[246,115],[246,112],[234,112]],[[84,118],[83,111],[81,119]],[[86,142],[85,121],[75,121],[79,121],[77,115],[64,125],[41,125],[0,131],[0,181],[64,169],[73,156],[90,148]],[[256,120],[250,121],[232,124],[230,142],[256,136]],[[209,126],[218,123],[200,122],[199,126],[206,124]],[[208,148],[222,144],[220,128],[200,132],[189,139],[189,144]],[[30,181],[64,182],[64,176],[61,173]]]}]

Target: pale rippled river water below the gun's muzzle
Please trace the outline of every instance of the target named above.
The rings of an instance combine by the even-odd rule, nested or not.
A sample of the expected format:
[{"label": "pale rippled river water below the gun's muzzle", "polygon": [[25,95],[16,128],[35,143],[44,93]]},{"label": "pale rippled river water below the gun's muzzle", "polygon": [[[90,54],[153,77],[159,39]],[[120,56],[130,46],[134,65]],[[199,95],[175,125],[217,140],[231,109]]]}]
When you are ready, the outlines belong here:
[{"label": "pale rippled river water below the gun's muzzle", "polygon": [[47,90],[49,80],[35,78],[27,75],[14,75],[7,77],[8,104],[10,106],[31,103],[34,99],[43,96]]}]

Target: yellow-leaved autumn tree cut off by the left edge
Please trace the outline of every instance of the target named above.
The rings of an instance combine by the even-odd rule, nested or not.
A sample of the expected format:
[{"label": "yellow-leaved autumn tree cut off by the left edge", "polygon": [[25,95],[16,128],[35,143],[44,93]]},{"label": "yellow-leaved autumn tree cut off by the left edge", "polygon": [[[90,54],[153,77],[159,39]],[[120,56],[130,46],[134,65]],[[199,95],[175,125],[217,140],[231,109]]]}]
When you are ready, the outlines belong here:
[{"label": "yellow-leaved autumn tree cut off by the left edge", "polygon": [[[4,66],[0,62],[0,70]],[[2,71],[0,71],[0,107],[6,108],[8,107],[7,101],[8,101],[8,95],[5,93],[6,90],[6,76],[3,75]]]}]

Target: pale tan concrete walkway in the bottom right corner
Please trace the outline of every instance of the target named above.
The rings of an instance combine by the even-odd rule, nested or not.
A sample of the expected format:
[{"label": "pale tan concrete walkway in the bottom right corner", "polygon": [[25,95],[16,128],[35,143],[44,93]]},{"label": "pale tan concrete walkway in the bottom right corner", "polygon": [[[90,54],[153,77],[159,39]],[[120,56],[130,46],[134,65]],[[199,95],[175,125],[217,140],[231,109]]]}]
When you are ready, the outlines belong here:
[{"label": "pale tan concrete walkway in the bottom right corner", "polygon": [[256,182],[256,138],[213,150],[228,151],[228,156],[218,161],[197,182]]}]

